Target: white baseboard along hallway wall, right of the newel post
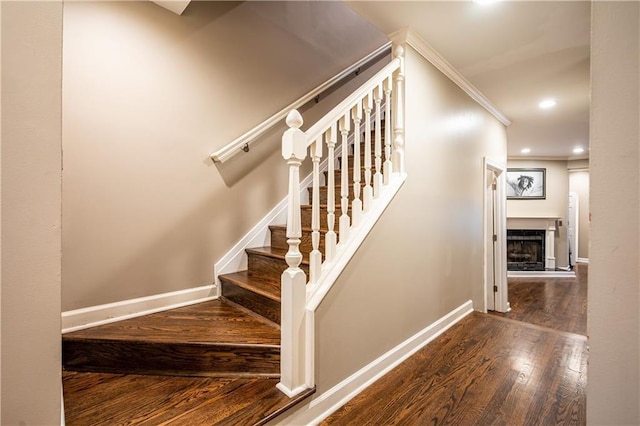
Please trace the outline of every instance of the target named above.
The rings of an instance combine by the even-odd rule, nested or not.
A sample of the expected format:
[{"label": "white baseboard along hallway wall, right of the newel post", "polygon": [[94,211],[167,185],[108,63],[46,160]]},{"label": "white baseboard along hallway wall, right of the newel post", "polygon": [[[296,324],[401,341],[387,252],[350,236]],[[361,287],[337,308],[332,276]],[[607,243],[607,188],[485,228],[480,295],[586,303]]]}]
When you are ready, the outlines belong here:
[{"label": "white baseboard along hallway wall, right of the newel post", "polygon": [[275,424],[317,425],[471,312],[469,300]]}]

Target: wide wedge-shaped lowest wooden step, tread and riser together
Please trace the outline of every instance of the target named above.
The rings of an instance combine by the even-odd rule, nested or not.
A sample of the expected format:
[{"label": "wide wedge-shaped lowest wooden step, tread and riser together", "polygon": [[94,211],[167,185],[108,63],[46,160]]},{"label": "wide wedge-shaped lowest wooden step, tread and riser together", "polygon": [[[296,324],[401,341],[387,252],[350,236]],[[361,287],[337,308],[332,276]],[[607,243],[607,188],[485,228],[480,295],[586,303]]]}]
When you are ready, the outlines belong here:
[{"label": "wide wedge-shaped lowest wooden step, tread and riser together", "polygon": [[67,371],[174,376],[280,373],[280,329],[217,299],[65,334]]}]

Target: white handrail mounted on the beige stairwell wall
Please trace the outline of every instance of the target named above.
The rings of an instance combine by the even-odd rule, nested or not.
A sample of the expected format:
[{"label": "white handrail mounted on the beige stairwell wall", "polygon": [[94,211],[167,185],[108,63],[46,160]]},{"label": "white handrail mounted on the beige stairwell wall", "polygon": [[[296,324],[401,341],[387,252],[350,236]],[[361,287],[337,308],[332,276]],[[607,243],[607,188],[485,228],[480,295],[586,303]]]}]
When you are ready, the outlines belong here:
[{"label": "white handrail mounted on the beige stairwell wall", "polygon": [[249,147],[249,145],[252,142],[254,142],[259,136],[266,133],[266,131],[272,128],[273,126],[277,124],[281,124],[282,120],[284,120],[284,118],[287,116],[287,114],[291,110],[302,107],[307,102],[312,101],[318,95],[322,94],[323,92],[327,91],[332,86],[334,86],[335,84],[345,79],[351,73],[356,72],[358,69],[362,68],[366,64],[376,60],[378,57],[388,52],[391,52],[391,42],[385,43],[384,45],[380,46],[379,48],[369,53],[364,58],[360,59],[355,64],[349,66],[348,68],[344,69],[340,73],[331,77],[329,80],[325,81],[315,89],[311,90],[309,93],[305,94],[304,96],[300,97],[296,101],[292,102],[290,105],[287,105],[282,110],[278,111],[271,117],[267,118],[265,121],[258,124],[256,127],[249,130],[242,136],[234,139],[233,141],[229,142],[227,145],[213,152],[211,154],[211,159],[217,163],[224,163],[225,161],[227,161],[228,159],[230,159],[240,151],[247,151],[248,150],[247,148]]}]

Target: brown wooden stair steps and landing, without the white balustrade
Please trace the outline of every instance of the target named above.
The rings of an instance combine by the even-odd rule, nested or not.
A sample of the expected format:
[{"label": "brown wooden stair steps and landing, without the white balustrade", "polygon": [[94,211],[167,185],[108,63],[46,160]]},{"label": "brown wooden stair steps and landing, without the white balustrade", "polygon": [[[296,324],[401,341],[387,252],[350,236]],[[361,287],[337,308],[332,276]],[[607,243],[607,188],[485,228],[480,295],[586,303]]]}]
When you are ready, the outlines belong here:
[{"label": "brown wooden stair steps and landing, without the white balustrade", "polygon": [[[364,179],[364,168],[361,174]],[[321,234],[326,189],[319,199]],[[339,205],[340,187],[335,193]],[[308,275],[312,206],[300,211],[301,268]],[[335,214],[342,214],[339,207]],[[314,389],[294,398],[276,389],[288,244],[286,226],[270,231],[270,246],[246,249],[247,270],[219,276],[219,299],[65,334],[66,424],[263,424],[310,396]]]}]

